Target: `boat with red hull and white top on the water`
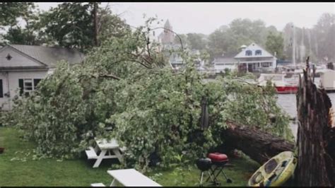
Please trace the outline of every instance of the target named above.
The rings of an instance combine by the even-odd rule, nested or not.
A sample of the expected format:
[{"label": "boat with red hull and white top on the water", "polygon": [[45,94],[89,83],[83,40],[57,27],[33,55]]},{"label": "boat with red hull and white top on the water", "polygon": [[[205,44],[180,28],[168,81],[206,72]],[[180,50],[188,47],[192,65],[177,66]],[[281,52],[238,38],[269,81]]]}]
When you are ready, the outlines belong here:
[{"label": "boat with red hull and white top on the water", "polygon": [[277,93],[297,93],[298,75],[285,78],[286,74],[261,74],[258,78],[259,86],[266,86],[267,81],[271,81]]}]

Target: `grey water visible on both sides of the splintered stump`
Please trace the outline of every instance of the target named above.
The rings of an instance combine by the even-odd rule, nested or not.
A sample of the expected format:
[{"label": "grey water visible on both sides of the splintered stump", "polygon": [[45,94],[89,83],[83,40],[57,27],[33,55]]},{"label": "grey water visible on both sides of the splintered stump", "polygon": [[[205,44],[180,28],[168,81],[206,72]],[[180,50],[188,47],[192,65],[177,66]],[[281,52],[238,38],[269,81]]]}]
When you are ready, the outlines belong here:
[{"label": "grey water visible on both sides of the splintered stump", "polygon": [[[278,105],[290,115],[290,117],[297,117],[297,98],[295,94],[278,94]],[[331,104],[335,105],[335,93],[328,93]],[[290,127],[293,131],[295,138],[298,133],[298,124],[291,122]]]}]

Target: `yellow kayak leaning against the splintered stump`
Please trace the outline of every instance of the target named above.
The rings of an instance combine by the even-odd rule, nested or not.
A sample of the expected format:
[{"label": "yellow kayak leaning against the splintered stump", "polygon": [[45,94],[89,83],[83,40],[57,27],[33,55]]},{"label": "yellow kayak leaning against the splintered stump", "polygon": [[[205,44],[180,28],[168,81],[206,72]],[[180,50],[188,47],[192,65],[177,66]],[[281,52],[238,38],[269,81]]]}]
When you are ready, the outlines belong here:
[{"label": "yellow kayak leaning against the splintered stump", "polygon": [[268,160],[249,179],[249,187],[278,187],[294,173],[297,158],[291,151],[284,151]]}]

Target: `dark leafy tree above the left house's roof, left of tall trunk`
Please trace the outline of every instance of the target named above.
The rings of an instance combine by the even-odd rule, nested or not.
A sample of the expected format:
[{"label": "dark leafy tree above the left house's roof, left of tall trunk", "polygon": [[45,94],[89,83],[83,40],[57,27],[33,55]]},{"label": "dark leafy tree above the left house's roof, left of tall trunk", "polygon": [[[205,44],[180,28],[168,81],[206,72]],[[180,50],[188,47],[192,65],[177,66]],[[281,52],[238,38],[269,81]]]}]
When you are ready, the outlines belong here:
[{"label": "dark leafy tree above the left house's roof, left of tall trunk", "polygon": [[41,14],[40,35],[61,47],[86,50],[94,45],[94,3],[63,3]]}]

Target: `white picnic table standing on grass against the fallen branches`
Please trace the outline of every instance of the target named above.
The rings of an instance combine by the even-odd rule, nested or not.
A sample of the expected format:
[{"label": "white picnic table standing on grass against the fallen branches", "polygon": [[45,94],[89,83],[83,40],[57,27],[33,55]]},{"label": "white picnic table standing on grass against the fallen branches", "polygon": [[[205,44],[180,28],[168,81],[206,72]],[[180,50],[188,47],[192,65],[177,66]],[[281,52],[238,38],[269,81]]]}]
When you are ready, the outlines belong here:
[{"label": "white picnic table standing on grass against the fallen branches", "polygon": [[[93,168],[98,168],[101,161],[107,158],[117,158],[122,162],[122,154],[120,153],[120,150],[124,150],[125,148],[119,148],[117,140],[95,139],[95,143],[95,148],[89,147],[88,150],[86,150],[88,159],[96,159]],[[97,153],[99,151],[100,154],[98,155]]]}]

